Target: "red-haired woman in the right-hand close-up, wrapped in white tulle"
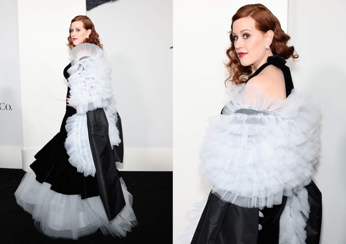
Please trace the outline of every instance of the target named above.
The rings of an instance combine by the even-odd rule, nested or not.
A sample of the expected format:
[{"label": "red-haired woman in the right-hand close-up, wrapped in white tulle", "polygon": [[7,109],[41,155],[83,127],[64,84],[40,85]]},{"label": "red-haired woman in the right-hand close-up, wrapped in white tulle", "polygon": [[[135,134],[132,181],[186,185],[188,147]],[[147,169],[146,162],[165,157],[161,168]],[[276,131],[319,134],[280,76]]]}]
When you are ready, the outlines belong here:
[{"label": "red-haired woman in the right-hand close-up, wrapped in white tulle", "polygon": [[212,189],[176,243],[319,243],[321,193],[311,178],[321,115],[293,89],[289,39],[262,4],[233,16],[230,101],[210,117],[200,154]]}]

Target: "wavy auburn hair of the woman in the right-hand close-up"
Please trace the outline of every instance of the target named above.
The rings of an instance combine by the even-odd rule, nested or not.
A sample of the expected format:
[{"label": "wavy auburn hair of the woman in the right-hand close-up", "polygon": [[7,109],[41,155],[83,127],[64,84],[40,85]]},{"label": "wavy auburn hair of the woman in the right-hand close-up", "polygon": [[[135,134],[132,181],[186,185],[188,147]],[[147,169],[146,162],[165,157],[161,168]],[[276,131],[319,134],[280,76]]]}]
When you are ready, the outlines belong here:
[{"label": "wavy auburn hair of the woman in the right-hand close-up", "polygon": [[228,81],[231,81],[233,84],[246,83],[251,76],[250,66],[244,67],[240,64],[234,47],[234,37],[232,36],[234,21],[245,17],[254,19],[256,29],[262,33],[268,30],[274,32],[273,41],[270,45],[273,55],[281,55],[284,59],[292,57],[293,60],[299,57],[298,54],[293,54],[294,46],[287,46],[287,42],[291,38],[281,29],[279,20],[269,9],[260,3],[245,5],[238,9],[232,17],[231,31],[228,32],[230,33],[231,46],[226,51],[226,55],[229,58],[229,62],[225,64],[229,73],[229,77],[225,80],[226,87]]}]

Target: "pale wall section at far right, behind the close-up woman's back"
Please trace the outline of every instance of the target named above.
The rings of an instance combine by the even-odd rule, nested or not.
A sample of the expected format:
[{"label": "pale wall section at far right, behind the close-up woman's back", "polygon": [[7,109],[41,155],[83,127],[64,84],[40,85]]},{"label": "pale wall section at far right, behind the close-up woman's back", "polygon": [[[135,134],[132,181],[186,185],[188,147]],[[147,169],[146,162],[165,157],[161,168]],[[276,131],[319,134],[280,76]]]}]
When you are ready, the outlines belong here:
[{"label": "pale wall section at far right, behind the close-up woman's back", "polygon": [[346,2],[289,1],[288,34],[299,54],[294,86],[322,101],[321,157],[314,182],[322,193],[320,243],[346,243]]}]

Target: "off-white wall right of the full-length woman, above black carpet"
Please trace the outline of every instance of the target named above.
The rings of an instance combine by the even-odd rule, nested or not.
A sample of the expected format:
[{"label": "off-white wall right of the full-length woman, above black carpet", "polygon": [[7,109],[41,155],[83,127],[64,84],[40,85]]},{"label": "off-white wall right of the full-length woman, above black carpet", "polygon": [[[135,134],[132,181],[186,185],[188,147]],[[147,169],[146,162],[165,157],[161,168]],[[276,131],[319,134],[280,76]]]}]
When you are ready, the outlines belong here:
[{"label": "off-white wall right of the full-length woman, above black carpet", "polygon": [[112,63],[124,169],[172,167],[172,0],[117,0],[86,12]]}]

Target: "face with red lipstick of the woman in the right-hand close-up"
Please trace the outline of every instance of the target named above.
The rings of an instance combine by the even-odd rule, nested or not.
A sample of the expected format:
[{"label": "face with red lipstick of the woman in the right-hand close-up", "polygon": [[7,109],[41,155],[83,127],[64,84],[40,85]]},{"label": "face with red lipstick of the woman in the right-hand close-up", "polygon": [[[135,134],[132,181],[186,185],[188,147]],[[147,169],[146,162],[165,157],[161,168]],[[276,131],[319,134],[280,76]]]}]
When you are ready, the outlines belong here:
[{"label": "face with red lipstick of the woman in the right-hand close-up", "polygon": [[270,49],[265,49],[265,46],[267,42],[271,45],[274,32],[271,30],[266,33],[260,32],[255,28],[255,20],[250,17],[234,21],[232,35],[240,64],[251,66],[253,72],[266,62],[268,56],[273,55]]}]

